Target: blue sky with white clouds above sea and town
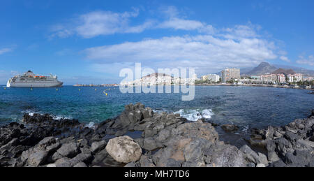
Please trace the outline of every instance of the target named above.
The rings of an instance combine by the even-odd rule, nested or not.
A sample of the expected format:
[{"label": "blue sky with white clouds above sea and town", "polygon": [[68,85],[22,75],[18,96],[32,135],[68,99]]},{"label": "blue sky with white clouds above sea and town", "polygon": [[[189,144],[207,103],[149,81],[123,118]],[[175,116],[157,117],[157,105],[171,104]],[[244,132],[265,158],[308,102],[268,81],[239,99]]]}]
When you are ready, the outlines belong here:
[{"label": "blue sky with white clouds above sea and town", "polygon": [[267,61],[314,69],[313,0],[0,1],[0,84],[28,70],[65,85],[122,68],[197,76]]}]

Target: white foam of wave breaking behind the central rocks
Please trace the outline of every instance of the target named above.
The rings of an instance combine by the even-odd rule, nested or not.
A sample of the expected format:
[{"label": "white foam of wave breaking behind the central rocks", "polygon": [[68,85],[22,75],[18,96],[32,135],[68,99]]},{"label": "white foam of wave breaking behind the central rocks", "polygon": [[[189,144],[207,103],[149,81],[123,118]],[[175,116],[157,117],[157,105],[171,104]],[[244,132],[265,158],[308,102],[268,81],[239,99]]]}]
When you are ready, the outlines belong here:
[{"label": "white foam of wave breaking behind the central rocks", "polygon": [[181,117],[186,118],[187,120],[191,122],[196,122],[199,119],[211,119],[211,116],[214,115],[213,111],[211,109],[204,109],[204,110],[178,110],[177,112],[174,113],[179,113]]}]

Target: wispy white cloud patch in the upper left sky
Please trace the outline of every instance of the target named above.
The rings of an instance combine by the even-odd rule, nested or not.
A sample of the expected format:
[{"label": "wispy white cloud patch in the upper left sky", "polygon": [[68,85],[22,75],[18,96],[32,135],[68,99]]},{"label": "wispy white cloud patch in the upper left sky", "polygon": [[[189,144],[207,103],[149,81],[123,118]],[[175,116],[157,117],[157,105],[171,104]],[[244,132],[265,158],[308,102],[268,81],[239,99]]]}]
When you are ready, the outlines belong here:
[{"label": "wispy white cloud patch in the upper left sky", "polygon": [[77,34],[83,38],[93,38],[100,35],[140,33],[148,29],[154,23],[147,20],[139,25],[130,25],[130,20],[139,15],[139,10],[132,12],[114,13],[111,11],[94,11],[76,17],[65,24],[54,25],[51,29],[53,34],[50,38],[58,36],[67,38]]}]

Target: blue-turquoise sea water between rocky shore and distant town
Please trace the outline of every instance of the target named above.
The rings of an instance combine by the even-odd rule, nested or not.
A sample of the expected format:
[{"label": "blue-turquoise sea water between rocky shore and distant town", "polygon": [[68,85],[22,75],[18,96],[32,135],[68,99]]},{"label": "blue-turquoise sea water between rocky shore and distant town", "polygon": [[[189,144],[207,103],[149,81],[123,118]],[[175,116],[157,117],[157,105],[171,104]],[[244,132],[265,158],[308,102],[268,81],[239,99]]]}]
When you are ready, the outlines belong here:
[{"label": "blue-turquoise sea water between rocky shore and distant town", "polygon": [[[108,88],[112,89],[105,91],[106,96],[103,91]],[[260,128],[307,117],[314,109],[314,95],[308,92],[273,87],[196,86],[195,99],[181,101],[181,94],[122,94],[119,87],[0,87],[0,124],[19,121],[24,113],[100,122],[119,115],[128,103],[142,102],[154,110],[179,111],[188,119],[195,119],[197,113],[208,113],[211,122]]]}]

